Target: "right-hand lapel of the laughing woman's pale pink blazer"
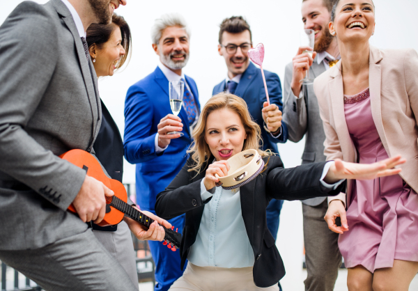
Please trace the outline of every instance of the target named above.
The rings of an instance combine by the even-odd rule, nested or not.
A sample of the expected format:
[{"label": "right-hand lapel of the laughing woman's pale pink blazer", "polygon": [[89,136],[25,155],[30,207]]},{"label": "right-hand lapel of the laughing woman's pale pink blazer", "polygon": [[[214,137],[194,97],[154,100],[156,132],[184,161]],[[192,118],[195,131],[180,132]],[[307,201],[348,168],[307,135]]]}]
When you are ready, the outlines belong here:
[{"label": "right-hand lapel of the laughing woman's pale pink blazer", "polygon": [[370,90],[370,104],[371,104],[371,115],[373,121],[378,130],[380,139],[382,140],[385,150],[390,156],[389,146],[387,146],[387,138],[385,129],[383,129],[382,120],[382,106],[380,98],[380,88],[382,80],[382,72],[380,71],[380,61],[382,60],[382,54],[379,49],[370,47],[370,65],[369,65],[369,90]]}]

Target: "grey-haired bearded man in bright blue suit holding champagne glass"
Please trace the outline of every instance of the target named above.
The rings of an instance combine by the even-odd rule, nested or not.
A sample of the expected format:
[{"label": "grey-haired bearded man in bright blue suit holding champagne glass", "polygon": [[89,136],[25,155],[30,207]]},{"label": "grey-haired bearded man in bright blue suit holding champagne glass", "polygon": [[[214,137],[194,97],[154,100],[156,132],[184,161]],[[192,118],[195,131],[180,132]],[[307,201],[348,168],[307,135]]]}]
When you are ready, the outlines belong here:
[{"label": "grey-haired bearded man in bright blue suit holding champagne glass", "polygon": [[[154,72],[129,88],[125,100],[125,158],[137,164],[137,204],[155,214],[155,197],[176,177],[187,160],[192,127],[200,113],[196,83],[183,74],[189,58],[189,30],[183,17],[162,15],[151,31],[153,49],[160,56]],[[169,81],[185,81],[183,107],[172,114]],[[168,134],[169,132],[182,132]],[[185,217],[170,223],[183,231]],[[161,242],[149,242],[155,261],[155,290],[166,291],[182,274],[180,253]]]}]

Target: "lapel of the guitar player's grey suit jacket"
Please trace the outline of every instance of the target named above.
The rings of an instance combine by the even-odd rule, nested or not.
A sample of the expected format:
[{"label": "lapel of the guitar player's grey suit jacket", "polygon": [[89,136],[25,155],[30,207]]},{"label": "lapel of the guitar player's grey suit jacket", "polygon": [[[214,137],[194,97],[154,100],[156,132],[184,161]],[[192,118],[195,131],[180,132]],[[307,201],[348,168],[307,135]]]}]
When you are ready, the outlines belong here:
[{"label": "lapel of the guitar player's grey suit jacket", "polygon": [[89,68],[90,60],[87,60],[86,58],[86,53],[84,52],[82,40],[79,36],[79,33],[77,31],[77,26],[75,26],[75,22],[74,22],[74,19],[72,18],[70,11],[65,6],[65,4],[62,3],[62,1],[54,0],[52,3],[54,7],[56,8],[56,11],[61,15],[63,21],[65,22],[65,25],[68,27],[68,30],[71,32],[72,37],[74,38],[74,41],[75,41],[75,47],[77,49],[77,55],[79,58],[80,68],[82,69],[84,85],[86,86],[86,91],[88,95],[88,102],[90,102],[91,113],[93,116],[93,129],[94,129],[93,138],[94,138],[95,132],[98,132],[98,130],[95,130],[98,125],[98,120],[100,120],[101,118],[100,102],[98,100],[99,95],[98,95],[98,92],[95,91],[95,88],[93,85],[93,81],[95,81],[94,78],[97,79],[97,77],[95,76],[94,69],[91,72]]}]

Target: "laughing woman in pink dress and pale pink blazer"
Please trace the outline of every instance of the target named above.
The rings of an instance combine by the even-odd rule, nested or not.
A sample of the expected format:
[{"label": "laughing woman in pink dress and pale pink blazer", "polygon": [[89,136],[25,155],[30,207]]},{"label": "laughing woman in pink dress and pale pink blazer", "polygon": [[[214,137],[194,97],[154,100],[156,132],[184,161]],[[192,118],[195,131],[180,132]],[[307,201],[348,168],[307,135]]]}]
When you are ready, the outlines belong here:
[{"label": "laughing woman in pink dress and pale pink blazer", "polygon": [[418,54],[371,47],[374,29],[373,1],[336,1],[330,32],[341,61],[314,83],[325,155],[369,164],[402,154],[406,162],[399,175],[350,180],[325,220],[341,234],[350,291],[408,291],[418,272]]}]

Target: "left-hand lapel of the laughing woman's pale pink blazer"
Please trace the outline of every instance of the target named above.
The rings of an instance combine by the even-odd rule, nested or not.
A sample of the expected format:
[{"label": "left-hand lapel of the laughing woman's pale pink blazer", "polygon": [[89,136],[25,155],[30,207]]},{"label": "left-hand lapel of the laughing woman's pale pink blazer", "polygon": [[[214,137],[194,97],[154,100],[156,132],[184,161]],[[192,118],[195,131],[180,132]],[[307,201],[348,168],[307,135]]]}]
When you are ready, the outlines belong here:
[{"label": "left-hand lapel of the laughing woman's pale pink blazer", "polygon": [[[344,160],[347,162],[355,162],[355,150],[353,141],[351,141],[350,133],[346,123],[346,113],[344,112],[344,91],[343,76],[341,75],[341,62],[336,65],[331,77],[334,77],[328,83],[329,94],[332,103],[332,113],[334,117],[336,132],[338,135],[341,151]],[[331,70],[331,69],[330,69]]]}]

